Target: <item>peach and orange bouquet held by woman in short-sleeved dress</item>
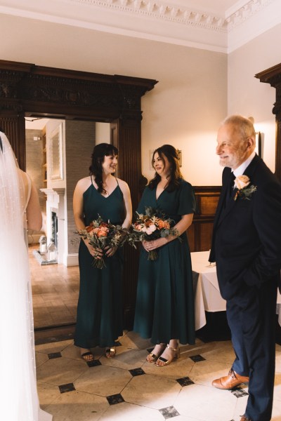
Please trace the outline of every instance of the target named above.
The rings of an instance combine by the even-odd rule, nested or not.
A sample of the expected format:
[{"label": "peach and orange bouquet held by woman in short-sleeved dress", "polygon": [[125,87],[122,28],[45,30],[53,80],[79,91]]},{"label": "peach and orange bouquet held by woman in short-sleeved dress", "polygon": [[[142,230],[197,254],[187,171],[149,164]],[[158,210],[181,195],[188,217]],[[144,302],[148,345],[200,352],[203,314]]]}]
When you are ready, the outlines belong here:
[{"label": "peach and orange bouquet held by woman in short-sleeved dress", "polygon": [[[135,243],[138,241],[153,241],[169,235],[177,236],[181,240],[178,230],[171,228],[173,220],[165,219],[164,214],[159,210],[147,207],[144,215],[141,213],[136,213],[136,215],[136,222],[131,225],[131,231],[127,238],[128,243],[134,248],[136,248]],[[148,252],[148,260],[157,260],[157,258],[158,253],[156,250]]]}]

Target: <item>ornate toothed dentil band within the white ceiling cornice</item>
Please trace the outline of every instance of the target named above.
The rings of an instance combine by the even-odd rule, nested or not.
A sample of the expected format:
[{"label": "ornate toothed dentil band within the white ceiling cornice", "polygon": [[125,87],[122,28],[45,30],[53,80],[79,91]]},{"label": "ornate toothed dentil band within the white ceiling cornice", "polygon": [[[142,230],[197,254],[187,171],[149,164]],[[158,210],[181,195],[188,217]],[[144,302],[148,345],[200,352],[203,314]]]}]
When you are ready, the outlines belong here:
[{"label": "ornate toothed dentil band within the white ceiling cornice", "polygon": [[216,32],[228,32],[247,20],[255,13],[261,11],[274,0],[249,0],[247,4],[240,7],[227,17],[211,15],[195,9],[182,8],[173,5],[171,2],[161,0],[71,0],[75,3],[97,6],[134,15],[145,15],[150,18],[168,20],[171,22],[211,29]]}]

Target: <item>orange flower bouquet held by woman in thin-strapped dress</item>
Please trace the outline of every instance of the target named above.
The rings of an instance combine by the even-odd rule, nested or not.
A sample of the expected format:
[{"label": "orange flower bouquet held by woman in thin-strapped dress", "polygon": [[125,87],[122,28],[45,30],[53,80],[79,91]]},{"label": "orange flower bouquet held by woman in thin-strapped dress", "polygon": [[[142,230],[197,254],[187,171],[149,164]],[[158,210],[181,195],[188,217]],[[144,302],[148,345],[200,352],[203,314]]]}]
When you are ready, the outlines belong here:
[{"label": "orange flower bouquet held by woman in thin-strapped dress", "polygon": [[[110,221],[104,222],[100,215],[88,227],[77,232],[79,236],[88,239],[91,246],[102,250],[106,247],[123,246],[127,233],[127,230],[120,225],[112,225]],[[104,258],[93,256],[93,267],[98,269],[106,267]]]}]

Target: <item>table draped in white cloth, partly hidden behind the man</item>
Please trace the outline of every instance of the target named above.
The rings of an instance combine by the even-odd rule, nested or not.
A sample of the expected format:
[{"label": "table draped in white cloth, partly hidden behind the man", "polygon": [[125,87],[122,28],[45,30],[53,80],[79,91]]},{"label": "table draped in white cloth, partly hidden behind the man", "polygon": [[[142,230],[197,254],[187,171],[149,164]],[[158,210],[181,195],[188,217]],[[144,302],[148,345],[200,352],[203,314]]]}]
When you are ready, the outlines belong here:
[{"label": "table draped in white cloth, partly hidden behind the man", "polygon": [[[223,300],[218,287],[216,266],[210,265],[209,251],[191,253],[193,286],[195,295],[195,330],[206,325],[205,312],[226,312],[226,300]],[[281,326],[281,295],[277,293],[276,314]]]}]

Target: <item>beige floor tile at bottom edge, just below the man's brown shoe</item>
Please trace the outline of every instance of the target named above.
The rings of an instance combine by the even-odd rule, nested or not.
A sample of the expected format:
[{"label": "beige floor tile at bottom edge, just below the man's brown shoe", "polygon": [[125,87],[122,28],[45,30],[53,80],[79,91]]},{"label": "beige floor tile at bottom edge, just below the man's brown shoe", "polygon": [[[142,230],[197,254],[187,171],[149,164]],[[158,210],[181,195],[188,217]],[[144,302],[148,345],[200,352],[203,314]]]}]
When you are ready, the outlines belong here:
[{"label": "beige floor tile at bottom edge, just below the man's brown shoe", "polygon": [[229,391],[190,385],[181,389],[174,407],[181,415],[195,420],[228,421],[233,419],[237,398]]}]

